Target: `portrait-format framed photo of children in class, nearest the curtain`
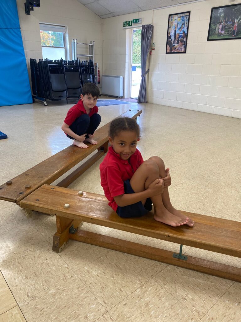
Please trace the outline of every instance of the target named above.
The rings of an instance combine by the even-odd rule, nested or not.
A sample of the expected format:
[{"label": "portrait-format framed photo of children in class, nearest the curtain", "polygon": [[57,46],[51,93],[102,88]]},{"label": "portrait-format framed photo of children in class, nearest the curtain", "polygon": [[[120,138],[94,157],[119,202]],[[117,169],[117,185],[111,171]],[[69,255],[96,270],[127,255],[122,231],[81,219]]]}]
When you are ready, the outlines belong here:
[{"label": "portrait-format framed photo of children in class, nearest the curtain", "polygon": [[190,11],[169,14],[166,54],[186,53],[189,20]]}]

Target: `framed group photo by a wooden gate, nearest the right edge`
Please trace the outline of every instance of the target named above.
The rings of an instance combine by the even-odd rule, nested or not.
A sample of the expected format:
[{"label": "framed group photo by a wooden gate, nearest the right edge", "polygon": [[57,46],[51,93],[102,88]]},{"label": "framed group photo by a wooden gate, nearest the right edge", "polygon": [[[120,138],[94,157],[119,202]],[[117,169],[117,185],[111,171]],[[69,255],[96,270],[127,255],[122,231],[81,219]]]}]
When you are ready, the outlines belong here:
[{"label": "framed group photo by a wooden gate, nearest the right edge", "polygon": [[211,10],[208,41],[241,39],[241,4]]}]

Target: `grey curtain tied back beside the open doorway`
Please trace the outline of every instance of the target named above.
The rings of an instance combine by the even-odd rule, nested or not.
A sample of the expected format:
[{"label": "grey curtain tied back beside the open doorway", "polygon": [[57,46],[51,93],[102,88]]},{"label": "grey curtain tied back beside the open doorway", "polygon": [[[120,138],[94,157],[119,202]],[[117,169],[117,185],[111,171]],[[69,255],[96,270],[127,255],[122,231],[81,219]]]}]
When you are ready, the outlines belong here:
[{"label": "grey curtain tied back beside the open doorway", "polygon": [[141,27],[141,83],[137,100],[139,103],[147,103],[147,74],[149,72],[149,52],[151,47],[152,33],[152,24],[145,24]]}]

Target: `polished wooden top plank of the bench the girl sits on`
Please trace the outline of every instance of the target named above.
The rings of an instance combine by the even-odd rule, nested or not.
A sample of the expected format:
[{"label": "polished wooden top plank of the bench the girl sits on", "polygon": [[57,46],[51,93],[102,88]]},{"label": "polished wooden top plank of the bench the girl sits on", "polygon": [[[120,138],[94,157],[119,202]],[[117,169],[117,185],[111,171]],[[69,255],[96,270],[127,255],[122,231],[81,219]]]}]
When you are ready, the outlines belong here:
[{"label": "polished wooden top plank of the bench the girl sits on", "polygon": [[[70,207],[65,209],[65,204],[69,204]],[[50,185],[43,185],[28,195],[21,201],[20,206],[59,217],[241,257],[241,223],[235,221],[188,212],[183,213],[194,220],[193,228],[187,225],[171,227],[158,223],[153,219],[152,213],[138,219],[123,219],[112,211],[103,195],[84,193],[83,196],[78,196],[76,190]]]}]

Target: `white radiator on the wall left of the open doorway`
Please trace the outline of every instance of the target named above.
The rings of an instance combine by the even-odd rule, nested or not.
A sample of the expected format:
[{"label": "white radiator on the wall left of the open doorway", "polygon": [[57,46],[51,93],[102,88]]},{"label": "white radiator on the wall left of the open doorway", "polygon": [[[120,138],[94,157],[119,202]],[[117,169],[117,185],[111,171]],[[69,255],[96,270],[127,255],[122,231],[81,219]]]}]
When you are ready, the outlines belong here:
[{"label": "white radiator on the wall left of the open doorway", "polygon": [[123,96],[123,77],[102,75],[102,94],[118,97]]}]

